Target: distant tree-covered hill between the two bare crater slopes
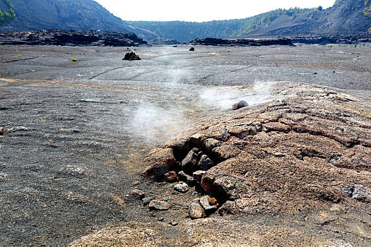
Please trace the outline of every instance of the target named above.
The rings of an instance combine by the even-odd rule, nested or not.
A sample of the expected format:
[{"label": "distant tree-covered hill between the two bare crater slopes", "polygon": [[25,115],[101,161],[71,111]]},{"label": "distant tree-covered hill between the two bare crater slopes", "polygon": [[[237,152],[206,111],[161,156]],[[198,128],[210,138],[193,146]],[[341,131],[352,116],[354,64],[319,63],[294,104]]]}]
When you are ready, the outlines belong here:
[{"label": "distant tree-covered hill between the two bare crater slopes", "polygon": [[179,41],[189,41],[196,37],[237,37],[245,35],[261,25],[269,25],[281,16],[294,19],[301,13],[319,11],[319,8],[278,8],[275,11],[261,13],[244,19],[213,20],[203,23],[185,21],[131,21],[128,22],[137,28],[151,30],[161,37]]}]

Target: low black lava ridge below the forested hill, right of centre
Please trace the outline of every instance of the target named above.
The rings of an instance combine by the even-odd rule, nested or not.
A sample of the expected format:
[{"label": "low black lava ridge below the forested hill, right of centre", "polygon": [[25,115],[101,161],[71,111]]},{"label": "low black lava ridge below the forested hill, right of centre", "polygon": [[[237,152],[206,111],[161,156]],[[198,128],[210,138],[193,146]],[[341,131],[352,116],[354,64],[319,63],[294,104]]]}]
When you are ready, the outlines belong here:
[{"label": "low black lava ridge below the forested hill, right of centre", "polygon": [[293,45],[293,42],[289,39],[273,39],[273,40],[227,40],[227,39],[216,39],[207,37],[204,39],[195,39],[189,42],[189,44],[203,44],[203,45],[218,45],[218,46],[266,46],[266,45]]}]

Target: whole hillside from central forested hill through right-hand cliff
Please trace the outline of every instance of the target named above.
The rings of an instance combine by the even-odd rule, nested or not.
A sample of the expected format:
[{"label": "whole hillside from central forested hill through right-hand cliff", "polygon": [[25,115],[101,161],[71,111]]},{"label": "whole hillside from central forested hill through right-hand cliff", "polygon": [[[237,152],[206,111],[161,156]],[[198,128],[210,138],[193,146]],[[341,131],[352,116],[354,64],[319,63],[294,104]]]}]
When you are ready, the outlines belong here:
[{"label": "whole hillside from central forested hill through right-hand cliff", "polygon": [[[245,19],[204,23],[182,21],[128,22],[162,37],[189,41],[196,37],[290,37],[369,35],[371,0],[337,0],[333,7],[278,9]],[[371,31],[371,29],[370,29]]]}]

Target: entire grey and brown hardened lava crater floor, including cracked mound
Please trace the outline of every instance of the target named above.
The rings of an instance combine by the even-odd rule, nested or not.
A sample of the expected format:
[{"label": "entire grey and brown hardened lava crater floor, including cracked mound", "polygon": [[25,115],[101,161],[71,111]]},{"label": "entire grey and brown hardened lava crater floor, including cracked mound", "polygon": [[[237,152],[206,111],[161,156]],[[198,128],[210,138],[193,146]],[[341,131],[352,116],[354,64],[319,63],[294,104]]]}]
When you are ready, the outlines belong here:
[{"label": "entire grey and brown hardened lava crater floor, including cracked mound", "polygon": [[1,245],[371,245],[370,47],[195,48],[0,48]]}]

